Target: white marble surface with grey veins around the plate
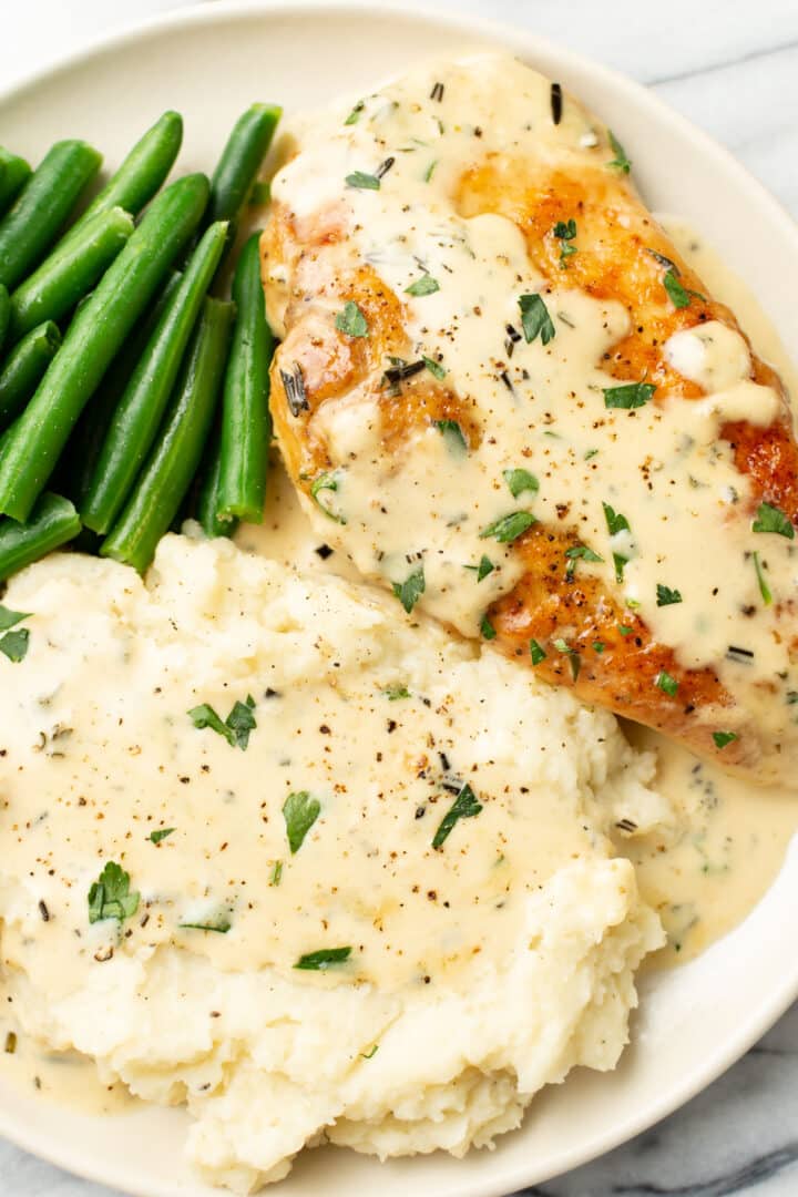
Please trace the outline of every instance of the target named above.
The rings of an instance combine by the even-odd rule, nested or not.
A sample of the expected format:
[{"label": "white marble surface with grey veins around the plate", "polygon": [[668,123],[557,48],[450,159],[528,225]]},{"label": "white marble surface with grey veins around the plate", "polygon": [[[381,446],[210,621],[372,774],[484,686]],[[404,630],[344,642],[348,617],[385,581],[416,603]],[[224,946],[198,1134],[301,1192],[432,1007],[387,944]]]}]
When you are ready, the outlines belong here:
[{"label": "white marble surface with grey veins around the plate", "polygon": [[[0,81],[11,83],[136,16],[183,4],[25,0],[4,7]],[[437,4],[528,25],[648,84],[729,146],[798,215],[798,0]],[[678,1113],[602,1160],[528,1190],[526,1197],[732,1193],[798,1195],[798,1005]],[[2,1141],[0,1195],[114,1197]]]}]

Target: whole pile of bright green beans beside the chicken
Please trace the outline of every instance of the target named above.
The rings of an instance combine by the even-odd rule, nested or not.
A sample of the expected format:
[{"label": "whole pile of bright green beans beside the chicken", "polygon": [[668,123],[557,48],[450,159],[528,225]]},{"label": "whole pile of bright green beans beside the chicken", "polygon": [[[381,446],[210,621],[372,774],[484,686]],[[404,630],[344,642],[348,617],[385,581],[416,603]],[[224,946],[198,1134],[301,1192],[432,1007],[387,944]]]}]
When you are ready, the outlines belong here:
[{"label": "whole pile of bright green beans beside the chicken", "polygon": [[93,146],[36,170],[0,147],[0,582],[72,541],[144,572],[189,515],[209,536],[262,521],[260,232],[219,292],[280,115],[252,104],[211,180],[163,187],[183,139],[164,113],[77,219]]}]

